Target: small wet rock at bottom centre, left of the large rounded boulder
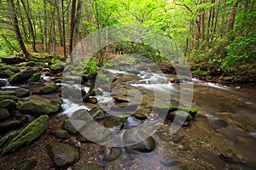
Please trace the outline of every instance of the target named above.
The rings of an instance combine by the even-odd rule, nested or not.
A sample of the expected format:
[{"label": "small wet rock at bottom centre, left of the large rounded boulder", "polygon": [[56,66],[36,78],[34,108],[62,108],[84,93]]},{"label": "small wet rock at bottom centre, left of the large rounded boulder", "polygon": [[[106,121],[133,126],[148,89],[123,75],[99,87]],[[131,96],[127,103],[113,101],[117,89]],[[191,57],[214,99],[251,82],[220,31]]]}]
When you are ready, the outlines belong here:
[{"label": "small wet rock at bottom centre, left of the large rounded boulder", "polygon": [[116,148],[116,147],[107,147],[107,146],[102,146],[101,148],[101,158],[103,161],[114,161],[117,158],[119,158],[119,156],[122,153],[121,148]]}]

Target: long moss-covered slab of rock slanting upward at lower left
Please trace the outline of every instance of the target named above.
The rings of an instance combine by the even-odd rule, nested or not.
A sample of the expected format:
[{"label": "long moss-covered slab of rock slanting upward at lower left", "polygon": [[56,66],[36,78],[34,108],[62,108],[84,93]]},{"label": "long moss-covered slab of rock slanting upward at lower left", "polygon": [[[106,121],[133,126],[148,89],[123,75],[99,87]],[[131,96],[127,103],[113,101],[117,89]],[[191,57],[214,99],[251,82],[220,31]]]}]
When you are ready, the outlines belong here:
[{"label": "long moss-covered slab of rock slanting upward at lower left", "polygon": [[31,144],[33,140],[44,132],[44,126],[49,116],[39,116],[36,120],[28,124],[9,144],[3,149],[3,154],[14,152],[23,144]]}]

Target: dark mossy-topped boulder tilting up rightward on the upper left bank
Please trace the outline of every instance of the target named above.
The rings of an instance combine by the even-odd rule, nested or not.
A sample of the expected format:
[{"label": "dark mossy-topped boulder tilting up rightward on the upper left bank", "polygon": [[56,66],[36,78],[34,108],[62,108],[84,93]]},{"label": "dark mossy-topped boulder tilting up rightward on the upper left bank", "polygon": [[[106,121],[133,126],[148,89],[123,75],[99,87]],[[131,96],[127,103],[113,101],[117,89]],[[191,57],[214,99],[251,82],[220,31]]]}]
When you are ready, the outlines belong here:
[{"label": "dark mossy-topped boulder tilting up rightward on the upper left bank", "polygon": [[26,82],[36,72],[36,69],[26,69],[25,71],[18,72],[9,78],[10,84],[20,84]]}]

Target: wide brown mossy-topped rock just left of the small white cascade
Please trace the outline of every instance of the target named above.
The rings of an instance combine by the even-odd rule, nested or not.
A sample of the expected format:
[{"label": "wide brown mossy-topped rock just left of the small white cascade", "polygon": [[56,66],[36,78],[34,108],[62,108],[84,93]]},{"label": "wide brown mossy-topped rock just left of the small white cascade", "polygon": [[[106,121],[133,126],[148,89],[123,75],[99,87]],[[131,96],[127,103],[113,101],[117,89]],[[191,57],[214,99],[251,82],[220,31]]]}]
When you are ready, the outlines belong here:
[{"label": "wide brown mossy-topped rock just left of the small white cascade", "polygon": [[39,95],[32,95],[25,99],[20,99],[17,104],[18,111],[38,117],[45,114],[59,111],[61,104],[57,100],[44,98]]}]

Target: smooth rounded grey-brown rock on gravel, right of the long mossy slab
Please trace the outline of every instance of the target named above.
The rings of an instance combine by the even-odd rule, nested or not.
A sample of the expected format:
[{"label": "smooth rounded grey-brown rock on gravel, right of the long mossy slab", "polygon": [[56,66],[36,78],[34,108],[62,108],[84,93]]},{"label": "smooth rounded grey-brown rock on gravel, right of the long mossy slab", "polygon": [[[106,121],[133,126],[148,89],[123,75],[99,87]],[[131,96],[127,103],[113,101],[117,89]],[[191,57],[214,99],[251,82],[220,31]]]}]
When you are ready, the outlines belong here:
[{"label": "smooth rounded grey-brown rock on gravel, right of the long mossy slab", "polygon": [[49,157],[59,167],[72,165],[80,157],[77,148],[59,142],[48,144],[46,149]]}]

